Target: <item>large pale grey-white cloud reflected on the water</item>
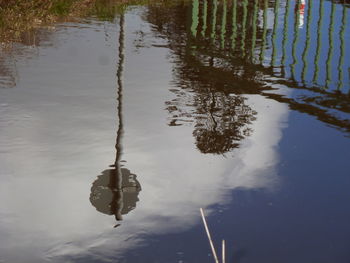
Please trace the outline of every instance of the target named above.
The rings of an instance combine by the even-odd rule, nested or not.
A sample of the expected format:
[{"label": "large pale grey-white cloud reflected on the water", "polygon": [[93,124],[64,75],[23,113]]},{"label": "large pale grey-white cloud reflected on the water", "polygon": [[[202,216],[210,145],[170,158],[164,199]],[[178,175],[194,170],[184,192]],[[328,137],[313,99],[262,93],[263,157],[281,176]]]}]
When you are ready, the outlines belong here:
[{"label": "large pale grey-white cloud reflected on the water", "polygon": [[[126,25],[126,32],[140,26],[151,30],[135,12],[126,15]],[[0,238],[0,259],[14,261],[21,249],[26,262],[77,262],[87,257],[108,260],[143,245],[147,235],[178,233],[199,224],[199,207],[229,202],[227,195],[232,189],[272,190],[278,184],[277,146],[287,118],[286,105],[258,95],[245,96],[245,103],[257,112],[251,123],[254,132],[226,158],[202,154],[195,147],[193,127],[166,125],[164,102],[173,96],[165,88],[172,79],[168,50],[154,47],[138,54],[126,50],[123,158],[128,160],[125,167],[142,181],[143,190],[133,196],[134,201],[140,199],[137,209],[112,229],[114,218],[96,213],[87,199],[91,182],[114,155],[115,101],[111,95],[114,87],[109,85],[115,73],[91,56],[97,47],[107,48],[100,42],[103,34],[90,29],[84,34],[91,43],[68,35],[61,48],[46,48],[46,55],[36,62],[37,70],[49,71],[49,63],[64,57],[64,76],[44,74],[40,85],[28,78],[24,84],[34,93],[18,88],[22,97],[19,93],[6,97],[16,105],[23,103],[23,108],[11,106],[1,116],[2,122],[21,118],[25,112],[30,112],[32,121],[24,127],[9,126],[1,135],[5,138],[1,145],[5,140],[16,142],[16,138],[20,142],[18,148],[8,147],[6,160],[2,158],[8,176],[2,176],[0,186],[0,197],[7,200],[1,213],[14,220],[1,221],[0,232],[7,235]],[[129,47],[132,34],[126,36],[125,46]],[[76,56],[90,59],[89,63],[79,67],[75,58],[65,56],[73,44],[79,46]],[[145,68],[148,73],[141,74]],[[86,71],[93,77],[86,77]],[[18,72],[23,76],[31,73],[26,67],[19,67]],[[157,72],[157,78],[149,72]],[[74,96],[74,101],[67,94]],[[113,172],[106,170],[98,180],[110,174]]]}]

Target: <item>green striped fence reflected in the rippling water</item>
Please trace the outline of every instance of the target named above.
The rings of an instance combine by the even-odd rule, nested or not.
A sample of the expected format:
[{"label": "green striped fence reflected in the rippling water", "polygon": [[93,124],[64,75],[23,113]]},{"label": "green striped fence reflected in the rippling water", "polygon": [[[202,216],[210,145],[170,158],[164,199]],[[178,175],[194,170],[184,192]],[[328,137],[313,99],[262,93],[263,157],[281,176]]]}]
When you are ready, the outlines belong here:
[{"label": "green striped fence reflected in the rippling water", "polygon": [[298,86],[349,93],[349,10],[326,0],[193,0],[190,31],[198,50],[208,40],[217,57],[261,65]]}]

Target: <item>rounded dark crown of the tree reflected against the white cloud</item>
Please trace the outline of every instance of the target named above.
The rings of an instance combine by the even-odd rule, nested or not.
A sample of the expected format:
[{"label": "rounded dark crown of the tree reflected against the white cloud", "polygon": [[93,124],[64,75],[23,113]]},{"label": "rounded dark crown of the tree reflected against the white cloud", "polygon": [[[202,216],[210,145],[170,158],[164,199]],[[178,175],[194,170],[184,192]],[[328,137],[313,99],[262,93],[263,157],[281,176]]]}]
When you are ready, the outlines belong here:
[{"label": "rounded dark crown of the tree reflected against the white cloud", "polygon": [[176,93],[178,98],[167,103],[169,125],[195,122],[193,135],[202,153],[224,154],[250,135],[249,124],[256,112],[245,104],[244,97],[203,89],[193,92],[188,101],[181,92]]}]

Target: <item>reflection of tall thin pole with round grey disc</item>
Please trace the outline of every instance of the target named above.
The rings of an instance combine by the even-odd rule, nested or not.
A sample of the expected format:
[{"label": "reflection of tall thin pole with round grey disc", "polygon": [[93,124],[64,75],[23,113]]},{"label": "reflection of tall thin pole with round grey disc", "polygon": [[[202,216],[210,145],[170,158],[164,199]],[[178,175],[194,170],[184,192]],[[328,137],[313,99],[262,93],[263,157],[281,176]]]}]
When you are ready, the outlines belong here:
[{"label": "reflection of tall thin pole with round grey disc", "polygon": [[[91,187],[90,202],[97,211],[114,215],[117,221],[123,219],[122,215],[129,213],[136,207],[139,201],[138,194],[141,185],[136,175],[122,167],[122,137],[123,137],[123,64],[124,64],[124,15],[120,16],[119,34],[119,62],[117,69],[118,86],[118,131],[115,144],[116,158],[111,169],[106,169],[93,182]],[[118,225],[117,225],[118,226]]]}]

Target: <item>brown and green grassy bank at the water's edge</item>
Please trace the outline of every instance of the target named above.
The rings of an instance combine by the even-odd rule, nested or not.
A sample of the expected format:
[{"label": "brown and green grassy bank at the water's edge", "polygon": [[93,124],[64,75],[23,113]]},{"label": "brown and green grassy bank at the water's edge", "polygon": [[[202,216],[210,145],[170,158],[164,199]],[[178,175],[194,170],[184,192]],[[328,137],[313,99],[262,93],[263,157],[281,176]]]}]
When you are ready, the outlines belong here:
[{"label": "brown and green grassy bank at the water's edge", "polygon": [[147,3],[148,0],[0,0],[0,41],[13,42],[23,32],[94,15],[101,20],[113,20],[128,5]]}]

